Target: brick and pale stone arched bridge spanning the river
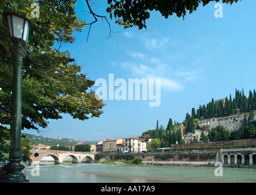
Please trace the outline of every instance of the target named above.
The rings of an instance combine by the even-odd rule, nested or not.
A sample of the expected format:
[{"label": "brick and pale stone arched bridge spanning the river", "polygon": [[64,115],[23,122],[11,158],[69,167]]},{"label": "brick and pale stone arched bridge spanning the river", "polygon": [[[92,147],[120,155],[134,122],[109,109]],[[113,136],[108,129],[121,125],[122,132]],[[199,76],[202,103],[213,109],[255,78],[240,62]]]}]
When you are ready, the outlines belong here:
[{"label": "brick and pale stone arched bridge spanning the river", "polygon": [[54,163],[59,164],[64,161],[64,158],[70,156],[73,158],[73,163],[81,163],[86,158],[89,161],[95,160],[95,154],[86,152],[73,152],[73,151],[52,151],[52,150],[42,150],[42,149],[32,149],[30,151],[32,154],[29,157],[29,164],[40,163],[43,157],[51,156],[54,158]]}]

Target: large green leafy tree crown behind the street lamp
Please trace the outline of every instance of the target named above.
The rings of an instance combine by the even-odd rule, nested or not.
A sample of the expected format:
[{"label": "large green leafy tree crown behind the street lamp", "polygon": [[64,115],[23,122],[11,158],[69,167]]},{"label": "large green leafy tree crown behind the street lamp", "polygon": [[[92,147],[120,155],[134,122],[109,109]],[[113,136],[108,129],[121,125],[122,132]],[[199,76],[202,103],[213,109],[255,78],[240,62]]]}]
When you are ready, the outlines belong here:
[{"label": "large green leafy tree crown behind the street lamp", "polygon": [[[31,4],[40,5],[40,17],[32,18]],[[67,0],[3,0],[0,12],[20,13],[34,23],[29,35],[27,56],[22,66],[22,128],[38,130],[48,119],[61,119],[67,113],[75,119],[89,119],[103,113],[103,101],[90,90],[93,80],[81,74],[68,51],[60,51],[62,43],[74,43],[74,32],[82,32],[84,21],[75,13],[75,1]],[[1,18],[1,16],[0,16]],[[12,91],[12,56],[9,30],[0,19],[0,122],[10,124]]]}]

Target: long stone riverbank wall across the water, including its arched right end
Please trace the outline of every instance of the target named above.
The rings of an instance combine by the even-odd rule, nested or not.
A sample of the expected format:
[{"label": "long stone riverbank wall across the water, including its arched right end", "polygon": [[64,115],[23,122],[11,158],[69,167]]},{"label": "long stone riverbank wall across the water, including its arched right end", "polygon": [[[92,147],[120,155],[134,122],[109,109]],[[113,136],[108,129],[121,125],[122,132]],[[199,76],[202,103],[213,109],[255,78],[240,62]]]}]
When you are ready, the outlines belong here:
[{"label": "long stone riverbank wall across the water, including its arched right end", "polygon": [[130,154],[104,154],[106,160],[122,161],[141,158],[146,165],[178,165],[178,166],[223,166],[250,167],[256,166],[256,148],[220,149],[213,151],[170,151]]}]

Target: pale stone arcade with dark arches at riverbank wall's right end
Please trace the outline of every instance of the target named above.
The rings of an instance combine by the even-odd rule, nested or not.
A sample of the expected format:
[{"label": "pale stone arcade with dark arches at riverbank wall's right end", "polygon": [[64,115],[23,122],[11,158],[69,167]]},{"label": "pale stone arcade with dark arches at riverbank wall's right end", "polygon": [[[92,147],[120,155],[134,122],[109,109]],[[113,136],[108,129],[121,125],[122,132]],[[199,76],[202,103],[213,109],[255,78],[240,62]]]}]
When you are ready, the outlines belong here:
[{"label": "pale stone arcade with dark arches at riverbank wall's right end", "polygon": [[256,165],[256,148],[221,149],[220,153],[224,165]]}]

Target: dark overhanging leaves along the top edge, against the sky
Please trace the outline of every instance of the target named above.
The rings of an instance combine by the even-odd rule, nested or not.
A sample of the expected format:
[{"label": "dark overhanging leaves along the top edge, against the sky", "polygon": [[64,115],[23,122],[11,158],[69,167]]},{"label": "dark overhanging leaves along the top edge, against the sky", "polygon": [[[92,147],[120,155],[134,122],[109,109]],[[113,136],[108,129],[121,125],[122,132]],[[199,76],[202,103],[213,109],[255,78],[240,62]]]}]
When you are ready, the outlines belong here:
[{"label": "dark overhanging leaves along the top edge, against the sky", "polygon": [[[197,10],[199,4],[203,6],[209,2],[219,0],[108,0],[109,7],[106,10],[111,18],[116,18],[116,23],[125,28],[137,26],[139,29],[146,28],[145,21],[150,18],[150,12],[155,10],[160,12],[164,18],[176,14],[179,18],[185,18],[186,12],[192,13]],[[238,2],[239,0],[222,0],[227,4]]]}]

